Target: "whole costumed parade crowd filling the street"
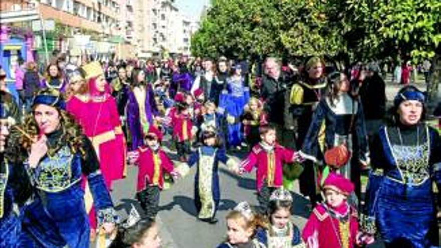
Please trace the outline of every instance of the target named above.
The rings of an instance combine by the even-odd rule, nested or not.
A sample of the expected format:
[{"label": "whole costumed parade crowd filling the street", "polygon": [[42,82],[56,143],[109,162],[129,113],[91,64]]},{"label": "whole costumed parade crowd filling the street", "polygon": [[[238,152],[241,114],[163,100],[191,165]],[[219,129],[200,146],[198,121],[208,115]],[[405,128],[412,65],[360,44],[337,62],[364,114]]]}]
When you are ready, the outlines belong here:
[{"label": "whole costumed parade crowd filling the street", "polygon": [[[13,86],[0,70],[0,247],[159,247],[161,191],[191,167],[196,217],[218,222],[219,163],[239,176],[255,169],[259,202],[228,214],[219,247],[438,242],[439,130],[414,86],[386,110],[373,63],[350,72],[316,56],[293,66],[57,55],[43,77],[35,62],[17,70]],[[144,214],[122,223],[109,192],[127,165],[138,167]],[[312,206],[303,230],[290,218],[296,180]]]}]

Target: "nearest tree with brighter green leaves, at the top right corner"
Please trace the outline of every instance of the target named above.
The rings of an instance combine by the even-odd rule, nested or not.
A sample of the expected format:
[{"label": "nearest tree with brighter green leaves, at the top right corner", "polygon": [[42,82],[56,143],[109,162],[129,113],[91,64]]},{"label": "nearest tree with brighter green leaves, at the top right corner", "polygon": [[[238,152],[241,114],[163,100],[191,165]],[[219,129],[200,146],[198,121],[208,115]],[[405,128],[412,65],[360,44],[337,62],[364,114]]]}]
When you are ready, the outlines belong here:
[{"label": "nearest tree with brighter green leaves, at the top right corner", "polygon": [[[440,82],[441,2],[439,0],[346,0],[353,20],[363,20],[359,47],[369,44],[365,57],[401,55],[414,63],[433,59],[435,72],[428,85],[429,98]],[[372,51],[375,51],[372,53]]]}]

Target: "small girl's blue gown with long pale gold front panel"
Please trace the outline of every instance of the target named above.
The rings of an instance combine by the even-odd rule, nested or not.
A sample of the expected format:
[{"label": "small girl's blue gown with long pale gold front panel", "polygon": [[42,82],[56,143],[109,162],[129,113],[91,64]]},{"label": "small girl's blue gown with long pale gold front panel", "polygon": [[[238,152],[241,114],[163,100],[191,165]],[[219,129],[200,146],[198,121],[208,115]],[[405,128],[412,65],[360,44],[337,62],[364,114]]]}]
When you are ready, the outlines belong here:
[{"label": "small girl's blue gown with long pale gold front panel", "polygon": [[188,158],[188,165],[197,164],[194,179],[194,203],[199,219],[209,219],[216,215],[220,202],[219,162],[231,167],[234,161],[229,159],[222,148],[201,146]]}]

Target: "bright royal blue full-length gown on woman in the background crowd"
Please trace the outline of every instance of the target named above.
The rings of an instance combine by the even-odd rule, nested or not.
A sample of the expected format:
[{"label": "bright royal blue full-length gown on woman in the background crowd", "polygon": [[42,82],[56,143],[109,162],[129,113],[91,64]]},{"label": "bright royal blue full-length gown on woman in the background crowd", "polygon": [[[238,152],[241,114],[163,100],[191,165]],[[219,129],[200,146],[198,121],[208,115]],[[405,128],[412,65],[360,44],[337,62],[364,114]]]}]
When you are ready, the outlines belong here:
[{"label": "bright royal blue full-length gown on woman in the background crowd", "polygon": [[[244,86],[244,78],[239,80],[229,78],[227,90],[220,93],[219,111],[227,118],[227,143],[229,147],[235,147],[243,141],[241,132],[241,115],[244,107],[250,99],[250,91]],[[228,117],[230,116],[230,123]],[[232,117],[232,118],[231,118]]]}]

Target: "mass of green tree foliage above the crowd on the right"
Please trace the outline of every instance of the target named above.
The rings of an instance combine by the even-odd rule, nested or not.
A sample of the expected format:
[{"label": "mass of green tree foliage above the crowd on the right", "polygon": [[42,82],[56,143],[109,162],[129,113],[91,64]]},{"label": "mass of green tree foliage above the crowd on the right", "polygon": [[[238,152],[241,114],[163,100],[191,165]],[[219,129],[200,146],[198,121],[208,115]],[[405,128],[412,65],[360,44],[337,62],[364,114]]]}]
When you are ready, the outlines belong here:
[{"label": "mass of green tree foliage above the crowd on the right", "polygon": [[439,0],[215,0],[192,38],[196,56],[401,54],[422,60],[441,42]]}]

